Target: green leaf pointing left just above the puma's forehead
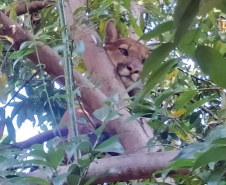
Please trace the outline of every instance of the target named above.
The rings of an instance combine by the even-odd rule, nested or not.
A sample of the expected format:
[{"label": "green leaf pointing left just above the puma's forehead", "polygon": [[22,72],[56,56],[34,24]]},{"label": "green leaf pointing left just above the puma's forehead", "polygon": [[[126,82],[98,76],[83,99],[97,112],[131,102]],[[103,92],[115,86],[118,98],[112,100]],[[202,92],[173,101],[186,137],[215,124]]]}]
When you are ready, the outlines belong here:
[{"label": "green leaf pointing left just above the puma's forehead", "polygon": [[149,40],[153,37],[157,37],[158,35],[167,31],[171,31],[173,29],[174,29],[173,21],[167,21],[158,25],[154,30],[151,30],[150,32],[142,35],[139,40]]}]

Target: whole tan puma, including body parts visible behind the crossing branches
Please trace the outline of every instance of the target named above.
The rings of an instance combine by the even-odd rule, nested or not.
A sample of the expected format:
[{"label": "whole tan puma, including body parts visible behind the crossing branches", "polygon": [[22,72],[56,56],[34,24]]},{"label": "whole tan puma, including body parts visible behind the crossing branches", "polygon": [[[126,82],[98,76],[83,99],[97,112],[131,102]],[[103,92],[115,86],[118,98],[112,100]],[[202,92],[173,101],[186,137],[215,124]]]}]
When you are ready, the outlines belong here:
[{"label": "whole tan puma, including body parts visible behind the crossing branches", "polygon": [[[113,20],[107,22],[104,47],[125,88],[128,88],[140,79],[143,62],[148,57],[149,50],[136,40],[121,37]],[[129,92],[129,95],[133,96],[136,91],[137,89],[133,89]],[[86,109],[89,109],[89,107],[86,107]],[[97,127],[100,125],[98,123],[99,120],[88,113],[85,115],[81,108],[76,109],[76,115],[77,118],[86,118],[88,115],[93,125]],[[61,119],[61,123],[63,122],[69,122],[68,111],[66,111]],[[78,124],[79,134],[88,134],[93,129],[91,123],[86,125]]]}]

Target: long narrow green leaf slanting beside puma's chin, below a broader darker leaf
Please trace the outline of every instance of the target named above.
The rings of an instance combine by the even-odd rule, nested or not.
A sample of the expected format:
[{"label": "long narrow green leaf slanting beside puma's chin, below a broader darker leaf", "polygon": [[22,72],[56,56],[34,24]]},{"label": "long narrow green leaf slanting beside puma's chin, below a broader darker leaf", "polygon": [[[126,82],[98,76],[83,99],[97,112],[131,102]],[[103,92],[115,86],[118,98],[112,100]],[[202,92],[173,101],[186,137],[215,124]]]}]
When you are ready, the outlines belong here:
[{"label": "long narrow green leaf slanting beside puma's chin, below a broader darker leaf", "polygon": [[176,63],[176,59],[172,59],[170,61],[167,61],[163,64],[161,64],[159,67],[157,67],[150,75],[147,83],[145,84],[145,87],[142,91],[138,92],[135,100],[133,102],[132,108],[134,109],[136,107],[136,104],[144,98],[146,94],[148,94],[153,87],[161,82],[161,80],[164,79],[166,74],[169,72],[169,70],[172,68],[172,66]]}]

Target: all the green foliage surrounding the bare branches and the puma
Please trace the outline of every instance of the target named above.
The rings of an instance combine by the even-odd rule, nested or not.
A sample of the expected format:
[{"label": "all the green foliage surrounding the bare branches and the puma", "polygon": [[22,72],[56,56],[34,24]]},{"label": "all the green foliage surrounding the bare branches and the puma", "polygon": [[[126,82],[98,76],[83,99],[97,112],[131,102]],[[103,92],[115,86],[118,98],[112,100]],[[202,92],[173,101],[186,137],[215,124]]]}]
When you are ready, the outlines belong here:
[{"label": "all the green foliage surrounding the bare branches and the puma", "polygon": [[[11,2],[4,3],[3,8],[10,6]],[[128,108],[133,112],[131,119],[149,118],[148,124],[154,129],[155,137],[150,139],[147,147],[151,148],[158,141],[164,150],[181,149],[173,164],[156,173],[165,178],[172,169],[189,167],[191,172],[188,175],[173,176],[175,182],[224,184],[226,28],[218,25],[225,21],[225,1],[143,0],[142,3],[146,13],[141,16],[140,26],[126,0],[88,1],[87,6],[76,10],[74,15],[85,10],[90,20],[98,25],[101,39],[109,19],[114,19],[123,36],[128,36],[128,27],[132,26],[140,40],[153,50],[144,63],[142,81],[145,85],[131,98]],[[39,13],[42,18],[35,27],[33,42],[24,43],[17,52],[0,43],[0,110],[13,108],[10,115],[4,115],[5,119],[1,117],[0,120],[8,131],[2,139],[2,146],[16,141],[15,128],[28,124],[26,120],[33,122],[34,127],[47,130],[47,127],[55,127],[60,122],[66,109],[68,95],[64,87],[45,74],[42,66],[34,66],[26,59],[34,52],[33,46],[39,40],[60,55],[64,50],[61,40],[64,28],[60,27],[56,9],[44,8]],[[28,15],[18,16],[17,20],[29,30],[34,29]],[[78,62],[84,46],[80,43],[77,48],[71,46],[70,49],[75,55],[74,68],[86,73],[83,64]],[[17,93],[20,87],[25,93]],[[12,101],[9,101],[10,97],[13,97]],[[96,110],[94,115],[106,124],[118,118],[115,102],[117,97],[106,102],[106,106]],[[117,136],[99,144],[103,129],[104,126],[95,132],[94,145],[88,137],[79,136],[60,147],[58,144],[64,141],[62,138],[49,141],[46,145],[48,150],[42,145],[23,151],[4,150],[0,154],[1,176],[11,182],[49,184],[44,179],[20,177],[21,172],[45,166],[46,173],[55,175],[53,184],[61,184],[66,179],[69,184],[79,184],[95,158],[106,152],[123,153]],[[63,151],[70,161],[72,156],[79,156],[76,148],[82,153],[78,164],[72,165],[66,174],[58,175],[57,167],[62,164]],[[155,178],[139,184],[151,182],[155,183]]]}]

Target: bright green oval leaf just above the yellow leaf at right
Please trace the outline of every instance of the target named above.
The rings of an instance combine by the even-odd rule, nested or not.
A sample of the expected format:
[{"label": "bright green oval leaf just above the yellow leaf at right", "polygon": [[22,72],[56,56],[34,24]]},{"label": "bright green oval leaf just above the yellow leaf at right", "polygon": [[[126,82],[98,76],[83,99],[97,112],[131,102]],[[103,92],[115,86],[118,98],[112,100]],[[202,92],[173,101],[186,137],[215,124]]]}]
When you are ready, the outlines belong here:
[{"label": "bright green oval leaf just above the yellow leaf at right", "polygon": [[188,101],[190,101],[196,94],[197,91],[185,91],[180,94],[180,96],[176,99],[175,102],[175,110],[181,109]]}]

